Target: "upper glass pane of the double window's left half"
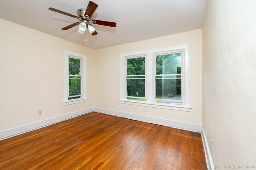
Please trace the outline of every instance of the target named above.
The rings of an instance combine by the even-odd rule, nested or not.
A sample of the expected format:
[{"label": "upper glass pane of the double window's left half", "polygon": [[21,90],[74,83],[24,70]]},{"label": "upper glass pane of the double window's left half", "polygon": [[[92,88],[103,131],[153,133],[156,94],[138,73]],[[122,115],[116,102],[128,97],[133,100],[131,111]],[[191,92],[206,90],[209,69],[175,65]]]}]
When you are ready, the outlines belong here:
[{"label": "upper glass pane of the double window's left half", "polygon": [[127,75],[145,75],[145,57],[127,59]]}]

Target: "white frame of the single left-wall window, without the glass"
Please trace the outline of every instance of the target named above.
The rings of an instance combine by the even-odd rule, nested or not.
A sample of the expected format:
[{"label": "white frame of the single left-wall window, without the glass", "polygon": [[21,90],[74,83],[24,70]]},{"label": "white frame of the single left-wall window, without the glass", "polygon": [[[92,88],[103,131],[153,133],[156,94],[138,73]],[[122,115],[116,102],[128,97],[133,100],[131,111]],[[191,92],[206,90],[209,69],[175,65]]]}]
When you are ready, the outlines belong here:
[{"label": "white frame of the single left-wall window, without the glass", "polygon": [[[69,58],[80,59],[81,95],[79,99],[68,100],[69,97]],[[64,105],[85,102],[86,98],[86,55],[64,50]]]}]

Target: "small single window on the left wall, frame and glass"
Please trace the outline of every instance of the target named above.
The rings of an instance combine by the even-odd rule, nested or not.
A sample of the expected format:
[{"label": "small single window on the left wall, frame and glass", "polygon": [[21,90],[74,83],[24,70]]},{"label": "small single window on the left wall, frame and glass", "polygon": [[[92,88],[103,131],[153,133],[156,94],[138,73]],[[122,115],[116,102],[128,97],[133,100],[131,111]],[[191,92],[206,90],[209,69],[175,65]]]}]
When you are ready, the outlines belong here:
[{"label": "small single window on the left wall, frame and glass", "polygon": [[65,50],[64,104],[86,101],[86,55]]}]

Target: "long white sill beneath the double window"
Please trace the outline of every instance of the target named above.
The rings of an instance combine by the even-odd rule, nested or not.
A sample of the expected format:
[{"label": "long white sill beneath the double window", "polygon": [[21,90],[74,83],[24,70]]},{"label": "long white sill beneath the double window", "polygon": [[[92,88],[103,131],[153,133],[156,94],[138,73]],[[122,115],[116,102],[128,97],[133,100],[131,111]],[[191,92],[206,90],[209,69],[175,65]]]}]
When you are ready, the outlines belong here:
[{"label": "long white sill beneath the double window", "polygon": [[165,105],[165,104],[157,104],[157,103],[145,103],[145,102],[138,102],[138,101],[130,101],[130,100],[119,100],[120,103],[128,104],[128,105],[137,105],[137,106],[145,106],[145,107],[154,107],[160,109],[170,109],[176,111],[186,111],[190,112],[191,107],[186,106],[176,106],[176,105]]}]

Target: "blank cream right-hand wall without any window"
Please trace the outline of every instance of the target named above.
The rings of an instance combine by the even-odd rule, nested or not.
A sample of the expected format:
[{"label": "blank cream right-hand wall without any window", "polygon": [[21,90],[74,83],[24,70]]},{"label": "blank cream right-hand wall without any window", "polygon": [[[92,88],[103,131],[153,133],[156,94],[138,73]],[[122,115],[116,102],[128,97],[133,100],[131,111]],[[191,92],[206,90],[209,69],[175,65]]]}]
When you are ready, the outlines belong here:
[{"label": "blank cream right-hand wall without any window", "polygon": [[216,166],[256,166],[255,7],[255,0],[209,0],[206,9],[203,127]]}]

